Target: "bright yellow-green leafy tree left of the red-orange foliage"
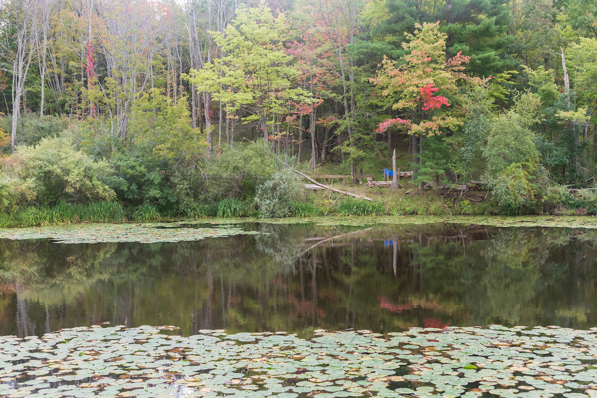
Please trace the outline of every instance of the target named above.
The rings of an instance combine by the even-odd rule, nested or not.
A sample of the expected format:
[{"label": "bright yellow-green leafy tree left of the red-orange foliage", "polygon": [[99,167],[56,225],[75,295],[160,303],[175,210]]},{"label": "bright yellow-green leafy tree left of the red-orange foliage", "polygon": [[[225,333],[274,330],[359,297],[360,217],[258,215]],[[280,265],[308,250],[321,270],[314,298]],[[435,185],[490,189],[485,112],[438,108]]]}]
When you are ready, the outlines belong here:
[{"label": "bright yellow-green leafy tree left of the red-orange foliage", "polygon": [[190,71],[199,90],[244,110],[245,122],[258,122],[265,143],[277,131],[276,116],[286,112],[285,103],[307,95],[293,84],[298,70],[282,45],[284,24],[284,14],[273,17],[263,5],[239,7],[226,33],[213,33],[224,57]]}]

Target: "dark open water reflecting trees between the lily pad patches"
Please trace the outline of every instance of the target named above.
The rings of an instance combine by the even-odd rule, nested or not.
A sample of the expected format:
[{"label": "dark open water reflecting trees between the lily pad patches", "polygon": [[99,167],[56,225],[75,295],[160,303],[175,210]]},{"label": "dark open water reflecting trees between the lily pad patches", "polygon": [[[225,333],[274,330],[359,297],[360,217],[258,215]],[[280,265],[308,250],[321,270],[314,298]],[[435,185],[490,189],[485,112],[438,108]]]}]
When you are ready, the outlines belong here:
[{"label": "dark open water reflecting trees between the lily pad patches", "polygon": [[597,326],[597,230],[242,224],[195,242],[0,240],[0,335]]}]

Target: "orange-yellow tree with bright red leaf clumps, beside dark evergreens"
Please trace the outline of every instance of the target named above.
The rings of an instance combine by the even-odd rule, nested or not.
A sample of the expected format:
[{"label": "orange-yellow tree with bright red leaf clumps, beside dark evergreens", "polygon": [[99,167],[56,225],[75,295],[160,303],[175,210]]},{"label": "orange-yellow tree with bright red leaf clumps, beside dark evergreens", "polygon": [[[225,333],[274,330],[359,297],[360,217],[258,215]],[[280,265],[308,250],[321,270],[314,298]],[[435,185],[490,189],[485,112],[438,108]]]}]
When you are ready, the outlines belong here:
[{"label": "orange-yellow tree with bright red leaf clumps, beside dark evergreens", "polygon": [[398,118],[381,122],[378,132],[393,125],[402,125],[413,138],[415,174],[424,156],[421,143],[424,137],[454,131],[462,124],[466,113],[465,91],[486,82],[464,73],[469,57],[461,52],[447,59],[446,35],[438,23],[416,24],[414,35],[406,33],[408,42],[402,44],[409,51],[401,62],[384,57],[381,69],[371,82],[383,89],[382,95],[394,98],[392,109]]}]

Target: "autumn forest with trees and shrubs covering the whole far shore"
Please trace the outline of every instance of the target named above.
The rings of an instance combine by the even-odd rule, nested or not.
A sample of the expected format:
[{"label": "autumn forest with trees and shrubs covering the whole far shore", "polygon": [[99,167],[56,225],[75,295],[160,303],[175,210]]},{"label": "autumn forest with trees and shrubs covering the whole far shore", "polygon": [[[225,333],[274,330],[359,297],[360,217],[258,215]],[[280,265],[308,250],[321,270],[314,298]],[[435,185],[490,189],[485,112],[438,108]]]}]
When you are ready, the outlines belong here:
[{"label": "autumn forest with trees and shrubs covering the whole far shore", "polygon": [[[0,8],[0,226],[597,214],[593,0]],[[420,196],[358,184],[394,149]],[[291,168],[375,198],[306,195]],[[488,200],[439,195],[471,180]]]}]

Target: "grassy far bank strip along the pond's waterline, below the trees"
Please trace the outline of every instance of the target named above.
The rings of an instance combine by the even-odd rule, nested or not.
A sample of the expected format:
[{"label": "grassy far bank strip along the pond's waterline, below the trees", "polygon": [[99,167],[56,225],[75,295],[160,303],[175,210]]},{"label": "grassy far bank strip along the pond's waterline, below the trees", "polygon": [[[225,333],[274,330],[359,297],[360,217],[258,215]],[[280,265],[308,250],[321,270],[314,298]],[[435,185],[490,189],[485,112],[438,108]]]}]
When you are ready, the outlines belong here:
[{"label": "grassy far bank strip along the pond's waterline, below the trees", "polygon": [[[336,182],[340,190],[367,196],[356,199],[330,190],[300,190],[290,200],[288,217],[383,216],[383,215],[497,215],[507,214],[493,200],[491,192],[442,190],[439,200],[434,189],[418,190],[407,181],[398,190],[366,188],[362,184]],[[278,204],[279,205],[279,204]],[[278,206],[273,203],[272,206]],[[534,206],[522,214],[595,215],[597,193],[590,190],[570,192],[564,187],[550,189]],[[159,221],[174,218],[264,218],[254,198],[223,199],[214,203],[195,203],[186,211],[164,211],[155,205],[130,207],[119,202],[93,202],[88,205],[59,203],[50,208],[30,206],[11,214],[0,215],[0,227],[49,226],[78,223],[122,223],[127,221]],[[275,216],[270,216],[275,217]]]}]

